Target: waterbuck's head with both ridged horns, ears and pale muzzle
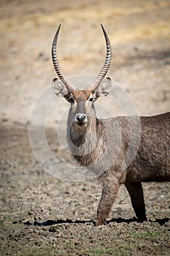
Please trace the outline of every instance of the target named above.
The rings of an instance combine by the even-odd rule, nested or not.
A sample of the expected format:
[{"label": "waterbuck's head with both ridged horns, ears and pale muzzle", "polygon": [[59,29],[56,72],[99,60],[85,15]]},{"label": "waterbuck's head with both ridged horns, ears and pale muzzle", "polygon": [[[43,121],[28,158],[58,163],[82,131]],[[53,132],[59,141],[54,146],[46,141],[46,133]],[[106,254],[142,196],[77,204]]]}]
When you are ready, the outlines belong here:
[{"label": "waterbuck's head with both ridged horns, ears and pale muzzle", "polygon": [[96,116],[93,102],[95,102],[98,97],[109,94],[112,85],[111,79],[105,78],[112,58],[111,45],[107,32],[101,25],[107,44],[107,55],[104,66],[90,86],[83,90],[76,89],[69,79],[63,75],[61,67],[58,63],[57,41],[60,28],[61,25],[56,31],[52,46],[53,65],[59,78],[54,78],[53,90],[56,95],[64,97],[71,104],[69,111],[69,122],[77,129],[84,129],[88,126],[90,118]]}]

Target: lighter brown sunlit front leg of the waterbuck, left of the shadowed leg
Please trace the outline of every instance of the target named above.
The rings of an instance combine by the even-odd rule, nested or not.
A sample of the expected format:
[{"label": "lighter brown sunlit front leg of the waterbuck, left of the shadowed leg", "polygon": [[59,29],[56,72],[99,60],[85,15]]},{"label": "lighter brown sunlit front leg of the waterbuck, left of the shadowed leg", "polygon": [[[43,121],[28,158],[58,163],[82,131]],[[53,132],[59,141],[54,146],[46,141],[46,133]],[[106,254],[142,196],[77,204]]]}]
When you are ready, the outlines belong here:
[{"label": "lighter brown sunlit front leg of the waterbuck, left of the shadowed leg", "polygon": [[120,183],[117,178],[110,178],[109,181],[104,181],[103,189],[101,193],[101,200],[97,209],[97,221],[96,226],[103,225],[109,215],[109,211],[112,208],[112,204],[115,201]]}]

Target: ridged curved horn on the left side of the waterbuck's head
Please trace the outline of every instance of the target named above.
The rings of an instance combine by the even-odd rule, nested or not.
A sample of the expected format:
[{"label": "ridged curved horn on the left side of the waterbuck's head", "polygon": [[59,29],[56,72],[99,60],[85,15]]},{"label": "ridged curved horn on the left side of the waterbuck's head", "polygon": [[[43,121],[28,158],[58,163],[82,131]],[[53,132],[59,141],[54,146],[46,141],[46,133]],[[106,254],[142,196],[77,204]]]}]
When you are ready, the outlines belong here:
[{"label": "ridged curved horn on the left side of the waterbuck's head", "polygon": [[55,33],[55,37],[53,39],[53,45],[52,45],[52,59],[53,59],[53,65],[55,68],[55,71],[58,75],[58,78],[61,79],[63,84],[65,84],[66,89],[70,92],[74,90],[74,85],[69,81],[68,78],[66,78],[65,75],[63,75],[63,72],[61,71],[60,64],[58,63],[58,57],[57,57],[57,40],[58,40],[58,34],[61,28],[61,24],[58,26],[58,30]]}]

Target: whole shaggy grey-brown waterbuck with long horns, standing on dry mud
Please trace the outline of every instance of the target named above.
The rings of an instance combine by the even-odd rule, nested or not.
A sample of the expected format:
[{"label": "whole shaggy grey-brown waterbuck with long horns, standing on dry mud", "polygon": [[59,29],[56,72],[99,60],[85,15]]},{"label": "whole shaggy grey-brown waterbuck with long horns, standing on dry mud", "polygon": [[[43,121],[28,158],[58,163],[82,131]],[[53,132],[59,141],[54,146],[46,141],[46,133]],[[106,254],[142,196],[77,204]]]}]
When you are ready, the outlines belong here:
[{"label": "whole shaggy grey-brown waterbuck with long horns, standing on dry mud", "polygon": [[[170,112],[139,117],[139,144],[135,143],[135,138],[139,138],[139,129],[129,125],[128,116],[108,119],[96,117],[94,102],[98,97],[107,96],[112,85],[111,79],[105,78],[112,57],[111,45],[102,25],[101,28],[107,44],[106,61],[94,82],[80,90],[63,75],[58,63],[58,27],[53,39],[52,58],[59,80],[53,80],[53,90],[70,103],[67,137],[74,158],[91,172],[100,173],[98,178],[102,183],[102,194],[96,225],[106,221],[120,184],[125,184],[128,189],[136,217],[142,222],[147,219],[142,181],[170,181]],[[134,135],[131,154],[135,152],[135,156],[123,168],[131,129]]]}]

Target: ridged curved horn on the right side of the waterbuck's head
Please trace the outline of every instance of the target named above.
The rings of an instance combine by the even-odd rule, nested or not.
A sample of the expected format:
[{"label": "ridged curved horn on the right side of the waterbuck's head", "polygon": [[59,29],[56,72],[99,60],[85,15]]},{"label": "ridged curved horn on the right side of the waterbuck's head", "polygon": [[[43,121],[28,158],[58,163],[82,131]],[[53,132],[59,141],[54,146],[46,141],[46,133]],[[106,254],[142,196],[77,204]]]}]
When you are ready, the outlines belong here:
[{"label": "ridged curved horn on the right side of the waterbuck's head", "polygon": [[105,40],[107,43],[107,56],[106,56],[104,66],[101,69],[101,72],[98,74],[98,76],[96,77],[96,79],[94,80],[92,85],[88,86],[88,88],[87,88],[90,91],[95,91],[98,88],[101,81],[104,79],[105,75],[107,75],[107,71],[109,70],[109,66],[110,66],[111,59],[112,59],[112,49],[111,49],[111,45],[109,42],[109,37],[107,36],[107,32],[105,31],[102,24],[101,24],[101,29],[104,32],[104,37],[105,37]]}]

